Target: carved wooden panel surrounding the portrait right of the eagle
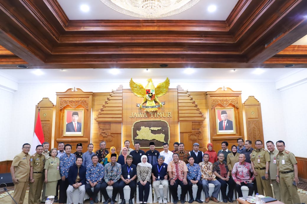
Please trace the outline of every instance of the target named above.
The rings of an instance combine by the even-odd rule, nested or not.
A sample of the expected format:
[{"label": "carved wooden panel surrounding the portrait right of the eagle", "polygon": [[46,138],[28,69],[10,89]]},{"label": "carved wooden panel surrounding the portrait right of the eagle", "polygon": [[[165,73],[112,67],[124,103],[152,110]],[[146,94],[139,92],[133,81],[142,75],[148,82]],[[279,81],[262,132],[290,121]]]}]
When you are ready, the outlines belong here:
[{"label": "carved wooden panel surrounding the portrait right of the eagle", "polygon": [[[216,91],[207,91],[207,103],[209,112],[210,140],[213,149],[221,149],[221,142],[227,141],[229,146],[237,144],[238,138],[244,138],[243,106],[241,91],[233,91],[231,88],[218,88]],[[235,113],[235,134],[217,134],[215,108],[234,108]],[[235,141],[235,142],[234,142]]]}]

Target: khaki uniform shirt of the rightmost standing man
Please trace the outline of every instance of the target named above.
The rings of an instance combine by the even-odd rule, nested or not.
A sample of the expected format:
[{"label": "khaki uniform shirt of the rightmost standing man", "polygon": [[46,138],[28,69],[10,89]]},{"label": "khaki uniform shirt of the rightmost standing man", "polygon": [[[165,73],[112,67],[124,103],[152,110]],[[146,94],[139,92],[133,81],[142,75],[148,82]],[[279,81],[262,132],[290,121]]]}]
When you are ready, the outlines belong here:
[{"label": "khaki uniform shirt of the rightmost standing man", "polygon": [[[294,170],[293,165],[297,164],[295,156],[292,152],[284,150],[283,152],[277,153],[277,167],[279,172],[292,171]],[[283,162],[284,160],[284,162]],[[284,164],[283,164],[284,163]]]}]

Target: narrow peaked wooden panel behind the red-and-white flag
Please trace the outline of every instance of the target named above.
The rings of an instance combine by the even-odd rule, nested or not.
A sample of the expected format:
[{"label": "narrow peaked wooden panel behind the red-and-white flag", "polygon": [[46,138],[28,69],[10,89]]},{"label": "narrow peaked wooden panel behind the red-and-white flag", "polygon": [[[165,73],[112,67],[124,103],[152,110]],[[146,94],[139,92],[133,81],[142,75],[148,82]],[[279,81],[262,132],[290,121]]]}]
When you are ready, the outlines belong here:
[{"label": "narrow peaked wooden panel behind the red-and-white flag", "polygon": [[40,118],[41,118],[41,126],[44,133],[45,142],[49,142],[49,150],[54,147],[54,129],[53,129],[53,117],[55,106],[49,100],[49,98],[43,98],[38,104],[35,106],[35,121],[34,128],[35,129],[37,115],[38,115],[38,107],[40,108]]}]

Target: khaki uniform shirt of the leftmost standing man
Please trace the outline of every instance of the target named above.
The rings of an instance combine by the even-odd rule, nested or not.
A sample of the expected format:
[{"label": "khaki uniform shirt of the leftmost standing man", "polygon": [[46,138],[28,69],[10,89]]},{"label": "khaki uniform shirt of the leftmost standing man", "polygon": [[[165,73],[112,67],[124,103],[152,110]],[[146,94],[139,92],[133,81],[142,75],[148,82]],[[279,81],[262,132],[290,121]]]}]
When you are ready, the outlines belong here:
[{"label": "khaki uniform shirt of the leftmost standing man", "polygon": [[30,155],[24,152],[17,154],[12,162],[12,166],[15,167],[15,178],[20,182],[29,181],[30,173]]}]

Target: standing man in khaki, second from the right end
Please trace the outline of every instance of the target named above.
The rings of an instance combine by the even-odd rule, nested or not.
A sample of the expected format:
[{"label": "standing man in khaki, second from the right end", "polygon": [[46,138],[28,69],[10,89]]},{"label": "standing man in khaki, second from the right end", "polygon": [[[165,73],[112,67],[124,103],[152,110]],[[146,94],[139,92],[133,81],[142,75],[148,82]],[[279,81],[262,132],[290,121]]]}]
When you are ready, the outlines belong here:
[{"label": "standing man in khaki, second from the right end", "polygon": [[271,183],[273,185],[274,196],[277,200],[280,201],[280,187],[279,187],[280,185],[276,181],[276,175],[277,175],[276,155],[278,153],[278,150],[275,149],[275,145],[272,141],[266,142],[266,148],[269,150],[269,154],[270,154],[269,175],[270,175]]}]

